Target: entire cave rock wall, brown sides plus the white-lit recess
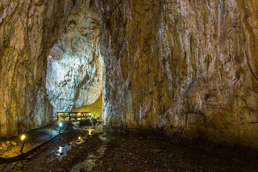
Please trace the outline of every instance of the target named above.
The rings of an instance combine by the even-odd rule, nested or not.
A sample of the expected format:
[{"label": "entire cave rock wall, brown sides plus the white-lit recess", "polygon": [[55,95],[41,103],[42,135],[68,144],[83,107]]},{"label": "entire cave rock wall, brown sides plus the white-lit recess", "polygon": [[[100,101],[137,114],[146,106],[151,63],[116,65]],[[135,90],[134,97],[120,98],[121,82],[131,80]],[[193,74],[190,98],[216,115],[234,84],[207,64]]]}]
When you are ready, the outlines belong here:
[{"label": "entire cave rock wall, brown sides plus the white-lit recess", "polygon": [[105,128],[258,147],[257,5],[0,1],[0,136],[93,102],[103,73]]}]

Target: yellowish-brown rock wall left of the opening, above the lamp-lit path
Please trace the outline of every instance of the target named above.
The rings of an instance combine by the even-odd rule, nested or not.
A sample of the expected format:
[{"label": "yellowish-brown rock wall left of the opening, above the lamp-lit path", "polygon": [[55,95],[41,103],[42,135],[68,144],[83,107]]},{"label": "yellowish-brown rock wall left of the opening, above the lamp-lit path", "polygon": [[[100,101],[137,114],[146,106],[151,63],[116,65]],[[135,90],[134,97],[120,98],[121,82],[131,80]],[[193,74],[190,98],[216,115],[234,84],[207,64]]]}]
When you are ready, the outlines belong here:
[{"label": "yellowish-brown rock wall left of the opening, above the lamp-lit path", "polygon": [[0,137],[53,121],[47,57],[71,13],[88,0],[0,1]]}]

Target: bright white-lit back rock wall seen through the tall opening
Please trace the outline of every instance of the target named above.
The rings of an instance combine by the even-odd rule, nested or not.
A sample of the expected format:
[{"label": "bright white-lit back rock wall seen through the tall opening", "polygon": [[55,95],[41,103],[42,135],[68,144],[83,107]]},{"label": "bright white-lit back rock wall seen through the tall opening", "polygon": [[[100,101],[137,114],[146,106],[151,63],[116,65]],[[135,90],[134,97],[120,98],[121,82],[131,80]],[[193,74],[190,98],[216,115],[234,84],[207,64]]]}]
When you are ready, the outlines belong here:
[{"label": "bright white-lit back rock wall seen through the tall opening", "polygon": [[56,112],[94,103],[102,93],[100,18],[92,2],[74,11],[48,56],[46,91]]}]

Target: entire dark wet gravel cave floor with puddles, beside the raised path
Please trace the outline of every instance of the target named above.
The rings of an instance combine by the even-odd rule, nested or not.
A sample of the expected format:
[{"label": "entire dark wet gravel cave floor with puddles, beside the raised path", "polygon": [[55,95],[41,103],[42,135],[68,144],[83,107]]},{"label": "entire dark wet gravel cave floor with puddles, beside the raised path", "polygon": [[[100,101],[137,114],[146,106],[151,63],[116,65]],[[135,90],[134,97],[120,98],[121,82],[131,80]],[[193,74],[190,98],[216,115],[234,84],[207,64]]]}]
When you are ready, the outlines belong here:
[{"label": "entire dark wet gravel cave floor with puddles, beside the raised path", "polygon": [[[79,138],[80,137],[80,138]],[[68,130],[24,160],[0,165],[1,172],[165,172],[258,171],[257,153],[173,144],[102,131],[99,127]]]}]

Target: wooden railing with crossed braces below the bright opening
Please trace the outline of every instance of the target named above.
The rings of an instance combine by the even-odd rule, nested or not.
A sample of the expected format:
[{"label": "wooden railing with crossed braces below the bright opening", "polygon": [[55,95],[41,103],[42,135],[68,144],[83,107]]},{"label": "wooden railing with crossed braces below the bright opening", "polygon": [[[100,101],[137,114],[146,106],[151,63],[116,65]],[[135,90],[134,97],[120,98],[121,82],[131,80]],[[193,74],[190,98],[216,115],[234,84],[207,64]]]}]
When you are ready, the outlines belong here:
[{"label": "wooden railing with crossed braces below the bright opening", "polygon": [[86,120],[88,117],[90,118],[91,112],[57,112],[57,120],[59,120],[59,117],[62,118],[63,120],[68,120],[71,121],[71,118],[75,120],[82,120],[83,118]]}]

